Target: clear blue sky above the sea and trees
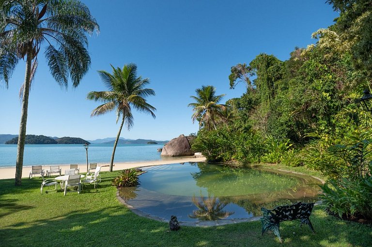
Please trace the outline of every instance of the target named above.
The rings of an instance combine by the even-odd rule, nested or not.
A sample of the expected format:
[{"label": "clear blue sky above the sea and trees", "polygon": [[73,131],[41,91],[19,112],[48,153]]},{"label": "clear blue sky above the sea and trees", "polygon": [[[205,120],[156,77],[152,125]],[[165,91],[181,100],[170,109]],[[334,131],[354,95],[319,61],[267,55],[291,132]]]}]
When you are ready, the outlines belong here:
[{"label": "clear blue sky above the sea and trees", "polygon": [[[72,136],[87,140],[114,137],[115,113],[90,117],[98,102],[90,91],[106,90],[98,70],[134,62],[138,74],[150,78],[156,96],[148,102],[156,118],[134,111],[129,139],[170,140],[198,131],[192,124],[191,95],[202,85],[226,94],[223,103],[240,97],[245,86],[229,89],[230,68],[249,63],[260,53],[281,60],[295,46],[315,43],[311,33],[333,24],[338,13],[325,0],[84,0],[100,25],[89,38],[92,66],[78,88],[60,88],[51,77],[43,53],[31,87],[27,134]],[[0,134],[18,134],[24,80],[21,60],[9,82],[0,84]]]}]

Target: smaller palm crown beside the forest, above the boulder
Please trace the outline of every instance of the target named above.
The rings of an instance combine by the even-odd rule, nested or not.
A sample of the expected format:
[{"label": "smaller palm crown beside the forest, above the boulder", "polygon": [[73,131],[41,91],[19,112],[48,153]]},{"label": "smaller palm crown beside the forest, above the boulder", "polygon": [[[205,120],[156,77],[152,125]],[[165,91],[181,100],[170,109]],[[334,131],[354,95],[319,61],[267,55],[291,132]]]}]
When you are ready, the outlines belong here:
[{"label": "smaller palm crown beside the forest, above the boulder", "polygon": [[193,107],[194,114],[192,122],[199,121],[199,128],[205,127],[207,130],[212,130],[216,127],[216,116],[221,116],[220,111],[225,108],[225,105],[218,104],[225,94],[216,95],[216,88],[213,86],[202,86],[195,90],[197,96],[190,96],[195,103],[189,103],[187,106]]}]

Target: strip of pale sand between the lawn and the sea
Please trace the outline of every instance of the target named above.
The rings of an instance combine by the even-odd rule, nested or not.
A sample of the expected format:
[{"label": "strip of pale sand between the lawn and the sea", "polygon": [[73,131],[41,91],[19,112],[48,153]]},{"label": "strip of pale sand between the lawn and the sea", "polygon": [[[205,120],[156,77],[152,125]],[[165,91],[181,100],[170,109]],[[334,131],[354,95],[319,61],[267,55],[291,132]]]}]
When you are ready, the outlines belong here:
[{"label": "strip of pale sand between the lawn and the sea", "polygon": [[[171,157],[164,160],[153,160],[153,161],[143,161],[143,162],[123,162],[123,163],[114,163],[113,170],[123,170],[127,168],[134,168],[134,167],[144,167],[144,166],[153,166],[153,165],[165,165],[165,164],[173,164],[173,163],[184,163],[184,162],[202,162],[205,158],[194,158],[193,156],[187,157]],[[108,163],[97,163],[98,166],[102,167],[101,171],[106,172],[109,171]],[[49,169],[50,165],[43,165],[43,169]],[[52,165],[56,166],[56,165]],[[70,165],[60,165],[62,168],[62,174],[64,174],[64,170],[69,169]],[[85,173],[87,171],[87,164],[79,164],[78,165],[80,173]],[[31,166],[24,166],[22,169],[22,177],[29,177],[31,170]],[[15,178],[16,175],[16,167],[5,167],[0,168],[0,179],[8,179],[8,178]]]}]

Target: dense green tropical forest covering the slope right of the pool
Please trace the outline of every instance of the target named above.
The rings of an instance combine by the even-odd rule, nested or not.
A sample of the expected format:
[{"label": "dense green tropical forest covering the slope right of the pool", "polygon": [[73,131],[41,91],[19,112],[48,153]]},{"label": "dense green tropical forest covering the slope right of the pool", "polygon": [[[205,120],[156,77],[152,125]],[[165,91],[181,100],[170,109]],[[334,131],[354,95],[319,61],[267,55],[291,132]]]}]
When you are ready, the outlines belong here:
[{"label": "dense green tropical forest covering the slope right of the pool", "polygon": [[[224,104],[233,118],[214,121],[215,128],[202,118],[205,110],[192,115],[201,127],[192,148],[210,162],[320,171],[329,179],[322,186],[327,210],[371,222],[372,107],[357,102],[372,91],[372,4],[327,2],[340,17],[312,34],[316,44],[295,47],[285,61],[261,53],[231,67],[231,89],[244,83],[247,90]],[[224,119],[222,112],[216,108],[210,116]]]}]

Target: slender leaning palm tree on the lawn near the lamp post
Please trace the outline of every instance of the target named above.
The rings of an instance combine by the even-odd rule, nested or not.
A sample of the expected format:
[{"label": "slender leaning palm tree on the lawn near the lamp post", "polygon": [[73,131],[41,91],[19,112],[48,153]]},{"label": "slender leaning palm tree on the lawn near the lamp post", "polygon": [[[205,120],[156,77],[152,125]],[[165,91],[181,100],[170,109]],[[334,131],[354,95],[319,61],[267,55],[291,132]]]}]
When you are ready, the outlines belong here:
[{"label": "slender leaning palm tree on the lawn near the lamp post", "polygon": [[89,92],[87,95],[88,100],[103,102],[103,104],[92,111],[91,116],[100,116],[116,110],[116,123],[120,118],[122,120],[111,155],[110,172],[112,172],[115,150],[124,123],[128,130],[133,127],[132,107],[140,112],[151,114],[154,118],[154,111],[156,110],[154,106],[150,105],[145,100],[147,96],[155,95],[155,91],[150,88],[144,88],[150,83],[150,80],[148,78],[142,79],[141,76],[137,77],[136,64],[130,63],[124,65],[123,69],[119,67],[115,69],[111,65],[111,68],[112,74],[106,71],[98,71],[103,83],[109,91],[93,91]]}]

